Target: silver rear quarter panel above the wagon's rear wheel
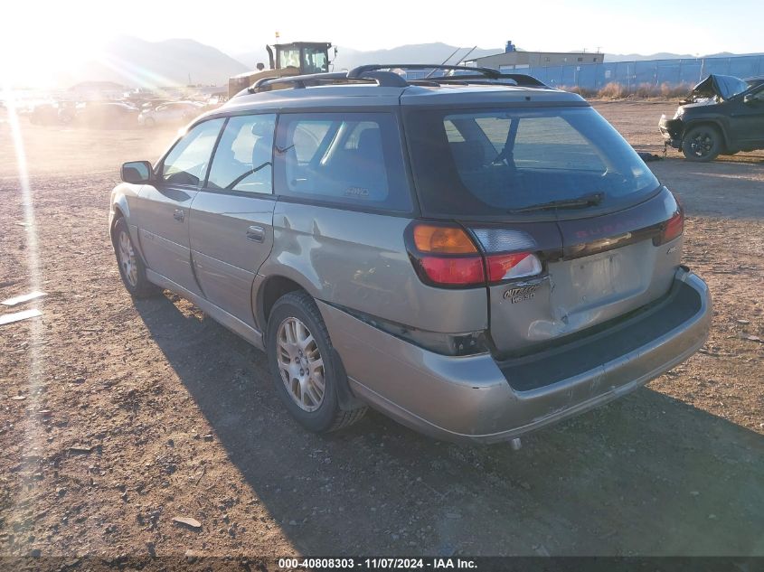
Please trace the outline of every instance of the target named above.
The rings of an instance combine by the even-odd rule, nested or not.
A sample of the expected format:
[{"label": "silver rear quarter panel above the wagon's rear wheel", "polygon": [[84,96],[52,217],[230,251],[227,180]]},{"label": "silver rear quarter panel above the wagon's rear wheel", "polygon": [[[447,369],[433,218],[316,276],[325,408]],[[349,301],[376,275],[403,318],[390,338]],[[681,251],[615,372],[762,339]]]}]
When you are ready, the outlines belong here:
[{"label": "silver rear quarter panel above the wagon's rear wheel", "polygon": [[259,274],[290,278],[318,300],[429,332],[485,330],[486,288],[423,284],[404,243],[409,223],[407,217],[279,201],[273,250]]}]

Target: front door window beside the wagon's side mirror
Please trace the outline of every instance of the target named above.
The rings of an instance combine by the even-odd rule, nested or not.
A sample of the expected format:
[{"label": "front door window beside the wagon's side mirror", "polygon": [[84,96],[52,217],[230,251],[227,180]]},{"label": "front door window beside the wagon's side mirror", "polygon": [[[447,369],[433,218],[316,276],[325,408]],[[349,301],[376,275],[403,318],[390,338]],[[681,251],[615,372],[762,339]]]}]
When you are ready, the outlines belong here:
[{"label": "front door window beside the wagon's side mirror", "polygon": [[223,121],[204,121],[175,144],[162,163],[160,176],[165,183],[197,186],[203,181]]}]

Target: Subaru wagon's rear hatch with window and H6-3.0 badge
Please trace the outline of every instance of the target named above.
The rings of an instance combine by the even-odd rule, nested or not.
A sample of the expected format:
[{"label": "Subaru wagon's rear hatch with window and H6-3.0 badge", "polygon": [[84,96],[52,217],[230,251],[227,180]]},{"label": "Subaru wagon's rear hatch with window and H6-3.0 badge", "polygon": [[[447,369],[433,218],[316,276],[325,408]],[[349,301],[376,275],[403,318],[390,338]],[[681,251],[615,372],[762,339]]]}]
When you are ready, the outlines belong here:
[{"label": "Subaru wagon's rear hatch with window and H6-3.0 badge", "polygon": [[499,358],[559,343],[665,295],[683,215],[590,107],[404,112],[422,214],[483,254]]}]

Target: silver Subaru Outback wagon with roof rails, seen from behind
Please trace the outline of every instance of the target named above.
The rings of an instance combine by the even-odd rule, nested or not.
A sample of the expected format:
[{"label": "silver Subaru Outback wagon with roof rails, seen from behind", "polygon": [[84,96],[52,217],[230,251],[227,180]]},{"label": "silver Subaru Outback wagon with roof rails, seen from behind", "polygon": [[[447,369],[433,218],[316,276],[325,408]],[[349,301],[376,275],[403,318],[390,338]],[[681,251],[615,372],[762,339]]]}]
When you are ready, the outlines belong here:
[{"label": "silver Subaru Outback wagon with roof rails, seen from behind", "polygon": [[109,229],[129,293],[172,290],[267,352],[317,432],[371,406],[510,440],[703,345],[682,207],[584,99],[401,67],[260,80],[124,164]]}]

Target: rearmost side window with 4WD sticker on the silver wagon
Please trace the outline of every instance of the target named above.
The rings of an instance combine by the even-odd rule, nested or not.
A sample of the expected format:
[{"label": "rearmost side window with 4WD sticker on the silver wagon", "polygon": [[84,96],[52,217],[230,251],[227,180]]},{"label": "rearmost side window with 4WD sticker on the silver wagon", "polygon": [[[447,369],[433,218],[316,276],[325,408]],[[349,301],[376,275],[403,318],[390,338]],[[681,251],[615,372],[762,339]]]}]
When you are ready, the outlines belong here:
[{"label": "rearmost side window with 4WD sticker on the silver wagon", "polygon": [[276,149],[279,194],[411,210],[401,135],[390,113],[284,114]]}]

